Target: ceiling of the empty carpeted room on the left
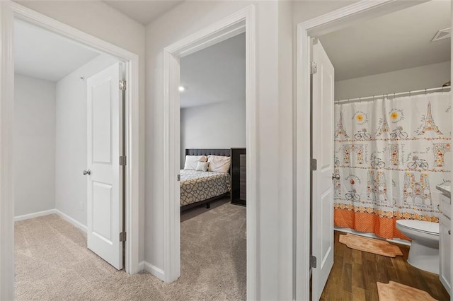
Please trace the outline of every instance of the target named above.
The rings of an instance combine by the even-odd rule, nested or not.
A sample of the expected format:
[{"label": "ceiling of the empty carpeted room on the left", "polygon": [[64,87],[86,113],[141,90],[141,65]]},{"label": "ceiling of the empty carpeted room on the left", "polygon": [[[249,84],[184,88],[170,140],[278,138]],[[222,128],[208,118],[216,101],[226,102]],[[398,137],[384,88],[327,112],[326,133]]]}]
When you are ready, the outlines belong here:
[{"label": "ceiling of the empty carpeted room on the left", "polygon": [[14,71],[59,81],[99,54],[25,22],[14,23]]}]

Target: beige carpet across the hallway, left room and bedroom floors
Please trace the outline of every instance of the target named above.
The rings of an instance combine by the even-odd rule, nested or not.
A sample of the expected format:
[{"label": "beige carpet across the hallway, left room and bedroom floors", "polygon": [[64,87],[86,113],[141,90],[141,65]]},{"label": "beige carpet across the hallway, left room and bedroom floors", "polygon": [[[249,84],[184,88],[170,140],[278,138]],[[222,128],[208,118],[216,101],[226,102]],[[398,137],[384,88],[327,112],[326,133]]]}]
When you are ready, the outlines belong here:
[{"label": "beige carpet across the hallway, left room and bedroom floors", "polygon": [[16,300],[245,300],[246,208],[228,201],[181,216],[181,277],[130,276],[86,249],[57,215],[16,223]]}]

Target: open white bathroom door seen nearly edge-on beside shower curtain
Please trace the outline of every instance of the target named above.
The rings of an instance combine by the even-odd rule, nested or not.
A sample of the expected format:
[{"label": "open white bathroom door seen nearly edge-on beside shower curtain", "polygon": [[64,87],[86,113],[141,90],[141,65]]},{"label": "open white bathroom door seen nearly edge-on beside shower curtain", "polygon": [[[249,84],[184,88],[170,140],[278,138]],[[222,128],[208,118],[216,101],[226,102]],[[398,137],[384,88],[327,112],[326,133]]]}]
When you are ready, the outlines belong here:
[{"label": "open white bathroom door seen nearly edge-on beside shower curtain", "polygon": [[313,300],[319,300],[333,266],[333,66],[319,40],[314,41],[313,61],[313,172],[312,254],[316,268],[311,270]]}]

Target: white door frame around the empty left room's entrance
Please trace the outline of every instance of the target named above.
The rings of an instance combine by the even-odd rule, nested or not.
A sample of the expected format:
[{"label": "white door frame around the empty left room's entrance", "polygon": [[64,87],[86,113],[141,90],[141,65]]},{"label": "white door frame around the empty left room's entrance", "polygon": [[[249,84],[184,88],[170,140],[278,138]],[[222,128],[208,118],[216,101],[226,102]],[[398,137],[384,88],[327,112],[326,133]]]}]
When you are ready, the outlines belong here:
[{"label": "white door frame around the empty left room's entrance", "polygon": [[[125,271],[139,271],[139,57],[137,54],[105,42],[98,37],[72,28],[41,13],[11,1],[0,1],[1,21],[1,66],[0,66],[0,299],[10,299],[13,292],[13,183],[11,181],[11,137],[13,132],[14,65],[13,27],[14,19],[45,28],[62,35],[96,52],[110,54],[126,65],[126,231]],[[4,210],[6,209],[6,210]],[[5,236],[4,236],[5,235]],[[4,240],[4,237],[6,240]],[[9,261],[9,262],[7,262]],[[9,279],[11,278],[11,280]],[[8,291],[8,295],[3,295]],[[11,295],[12,296],[12,295]]]}]

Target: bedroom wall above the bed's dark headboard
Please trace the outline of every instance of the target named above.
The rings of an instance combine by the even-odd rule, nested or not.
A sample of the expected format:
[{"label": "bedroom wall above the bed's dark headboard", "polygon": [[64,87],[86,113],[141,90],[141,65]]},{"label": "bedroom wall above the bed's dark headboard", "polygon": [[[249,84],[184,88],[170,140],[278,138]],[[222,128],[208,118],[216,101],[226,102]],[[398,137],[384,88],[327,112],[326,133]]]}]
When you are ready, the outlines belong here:
[{"label": "bedroom wall above the bed's dark headboard", "polygon": [[243,100],[181,109],[180,141],[181,168],[185,148],[245,148],[245,95]]}]

